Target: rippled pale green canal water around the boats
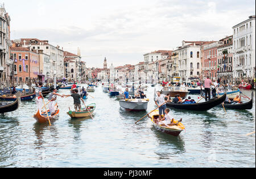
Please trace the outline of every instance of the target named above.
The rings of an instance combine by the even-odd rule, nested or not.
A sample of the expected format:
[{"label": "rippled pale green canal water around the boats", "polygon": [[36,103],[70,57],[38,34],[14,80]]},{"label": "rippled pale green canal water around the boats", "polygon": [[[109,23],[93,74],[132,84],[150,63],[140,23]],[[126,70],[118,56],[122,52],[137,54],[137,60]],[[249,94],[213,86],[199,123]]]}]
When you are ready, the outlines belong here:
[{"label": "rippled pale green canal water around the boats", "polygon": [[[251,91],[243,93],[251,96]],[[150,112],[155,109],[154,88],[146,94]],[[251,110],[227,114],[223,108],[171,109],[186,127],[172,137],[156,130],[148,118],[135,125],[147,112],[123,111],[101,87],[90,95],[94,99],[86,104],[97,105],[93,120],[71,120],[72,97],[58,97],[60,114],[51,127],[32,117],[35,101],[0,116],[0,167],[255,167],[255,134],[245,136],[255,131],[255,101]]]}]

